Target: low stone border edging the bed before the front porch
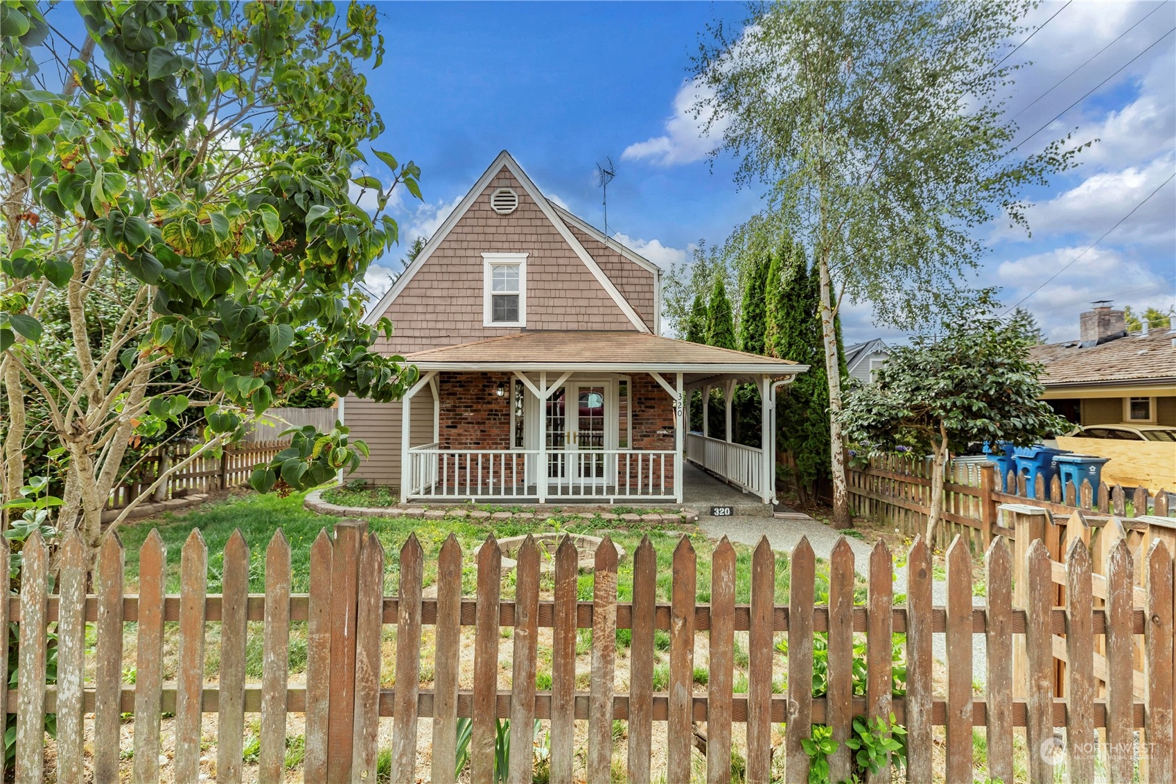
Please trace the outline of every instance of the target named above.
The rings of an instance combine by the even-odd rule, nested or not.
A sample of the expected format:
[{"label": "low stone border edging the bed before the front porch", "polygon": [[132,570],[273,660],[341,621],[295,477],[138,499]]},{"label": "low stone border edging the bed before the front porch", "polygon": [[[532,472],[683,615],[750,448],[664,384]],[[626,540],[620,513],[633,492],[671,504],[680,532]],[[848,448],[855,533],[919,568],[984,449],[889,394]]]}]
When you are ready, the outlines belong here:
[{"label": "low stone border edging the bed before the front porch", "polygon": [[395,506],[339,506],[329,504],[322,499],[322,493],[332,487],[313,490],[306,494],[302,506],[319,514],[330,514],[333,517],[408,517],[426,520],[442,520],[446,518],[462,519],[473,518],[475,520],[542,520],[550,517],[581,517],[596,518],[602,520],[616,520],[624,524],[662,524],[662,523],[696,523],[699,513],[688,507],[670,506],[659,511],[647,511],[643,514],[627,512],[617,514],[609,511],[612,507],[604,504],[569,504],[564,506],[549,506],[547,504],[517,504],[521,511],[512,512],[507,510],[488,512],[473,504],[397,504]]}]

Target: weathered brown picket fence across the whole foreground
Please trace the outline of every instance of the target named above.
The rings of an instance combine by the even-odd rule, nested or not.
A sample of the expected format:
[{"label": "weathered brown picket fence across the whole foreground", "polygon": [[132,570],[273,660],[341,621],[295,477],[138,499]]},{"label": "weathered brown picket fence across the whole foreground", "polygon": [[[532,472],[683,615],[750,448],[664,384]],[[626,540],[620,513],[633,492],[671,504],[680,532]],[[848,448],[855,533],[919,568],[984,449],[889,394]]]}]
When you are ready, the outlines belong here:
[{"label": "weathered brown picket fence across the whole foreground", "polygon": [[[1018,550],[1028,537],[1018,542]],[[0,549],[7,545],[0,544]],[[829,758],[831,780],[850,770],[854,717],[888,717],[906,725],[908,780],[970,782],[973,729],[987,727],[987,776],[1013,780],[1014,732],[1024,727],[1033,782],[1053,782],[1064,759],[1071,780],[1094,780],[1095,750],[1112,782],[1130,782],[1137,766],[1144,780],[1172,778],[1172,560],[1162,540],[1144,554],[1144,606],[1132,598],[1132,556],[1125,539],[1108,547],[1104,606],[1096,606],[1090,557],[1081,539],[1064,564],[1067,593],[1057,606],[1054,564],[1045,544],[1022,551],[1024,578],[1014,603],[1014,557],[998,537],[985,559],[987,606],[973,605],[973,563],[956,539],[947,552],[947,605],[933,605],[933,562],[916,540],[907,559],[907,596],[894,603],[890,551],[878,543],[869,557],[868,597],[854,604],[854,553],[841,540],[829,564],[828,604],[816,606],[815,558],[806,539],[791,554],[787,605],[775,604],[775,557],[762,540],[751,559],[750,604],[736,604],[736,553],[724,539],[711,556],[710,602],[696,604],[696,557],[683,538],[673,557],[669,604],[656,602],[657,566],[644,540],[634,553],[633,600],[617,602],[617,556],[606,539],[595,553],[592,602],[576,597],[577,552],[564,539],[554,556],[553,598],[541,598],[540,551],[533,542],[517,553],[515,599],[501,599],[502,557],[489,538],[476,554],[476,597],[462,596],[462,552],[450,537],[437,556],[436,597],[425,597],[425,558],[415,537],[400,551],[399,587],[385,596],[385,552],[361,524],[342,521],[334,536],[321,532],[310,551],[309,593],[290,593],[290,550],[281,531],[265,558],[263,594],[248,592],[249,550],[240,532],[226,545],[222,592],[207,593],[208,553],[194,530],[180,560],[181,591],[165,594],[166,552],[153,531],[140,550],[139,593],[123,594],[123,549],[115,537],[102,545],[87,594],[87,552],[75,534],[60,551],[58,593],[49,594],[47,550],[39,534],[24,549],[19,598],[0,603],[4,625],[18,624],[19,685],[0,690],[0,710],[16,713],[18,780],[41,780],[45,763],[42,720],[56,715],[58,782],[75,784],[119,778],[120,715],[134,713],[133,777],[160,775],[160,726],[174,712],[175,746],[169,762],[175,780],[200,772],[201,717],[218,715],[216,778],[242,777],[246,713],[260,712],[262,782],[281,780],[289,713],[305,715],[305,780],[375,780],[380,717],[392,717],[392,782],[429,776],[453,782],[459,717],[472,717],[470,779],[489,782],[494,771],[495,718],[509,718],[523,737],[510,744],[513,780],[529,780],[535,719],[550,727],[550,780],[573,780],[574,722],[587,720],[586,772],[590,782],[610,780],[613,722],[628,723],[628,776],[648,782],[654,722],[668,724],[666,780],[691,779],[695,723],[706,723],[707,779],[731,776],[734,723],[746,725],[747,780],[767,782],[773,752],[784,756],[787,782],[807,782],[809,757],[802,749],[814,724],[831,727],[840,749]],[[6,552],[0,552],[6,557]],[[2,562],[0,562],[2,563]],[[263,672],[246,678],[250,620],[263,622]],[[121,677],[125,624],[135,623],[136,677]],[[165,682],[165,624],[179,622],[175,678]],[[292,622],[307,622],[305,687],[288,683]],[[220,624],[219,679],[205,683],[206,624]],[[86,676],[86,630],[94,626],[92,680]],[[46,639],[55,625],[56,685],[46,686]],[[394,625],[395,663],[385,666],[381,631]],[[435,626],[433,689],[420,687],[422,626]],[[472,689],[459,687],[459,645],[474,627]],[[500,627],[513,627],[512,687],[500,689]],[[553,629],[549,690],[536,689],[540,627]],[[590,680],[577,691],[576,630],[592,630]],[[629,691],[614,690],[617,629],[632,629]],[[654,692],[654,631],[669,633],[669,682]],[[734,693],[734,634],[749,632],[748,685]],[[709,678],[694,683],[696,634],[704,633]],[[906,693],[894,691],[891,645],[904,633]],[[946,634],[946,684],[933,680],[933,634]],[[787,653],[775,645],[787,636]],[[827,639],[827,690],[814,695],[814,638]],[[987,646],[987,690],[974,696],[973,642]],[[1068,653],[1064,697],[1055,696],[1054,640],[1064,634]],[[1142,636],[1145,686],[1132,695],[1134,643]],[[853,687],[855,637],[866,640],[866,693]],[[1096,680],[1093,652],[1103,645],[1105,679]],[[1023,673],[1011,672],[1015,646],[1025,649]],[[6,649],[0,656],[7,656]],[[5,671],[0,662],[0,671]],[[387,670],[395,675],[386,687]],[[773,678],[787,675],[787,693],[773,693]],[[93,716],[93,757],[86,758],[83,726]],[[432,770],[416,769],[417,718],[432,718]],[[782,749],[773,748],[773,724],[787,723]],[[946,759],[935,762],[933,727],[946,727]],[[1055,732],[1065,729],[1064,755],[1055,756]],[[1143,729],[1147,743],[1137,743]],[[1102,745],[1098,745],[1098,740]]]}]

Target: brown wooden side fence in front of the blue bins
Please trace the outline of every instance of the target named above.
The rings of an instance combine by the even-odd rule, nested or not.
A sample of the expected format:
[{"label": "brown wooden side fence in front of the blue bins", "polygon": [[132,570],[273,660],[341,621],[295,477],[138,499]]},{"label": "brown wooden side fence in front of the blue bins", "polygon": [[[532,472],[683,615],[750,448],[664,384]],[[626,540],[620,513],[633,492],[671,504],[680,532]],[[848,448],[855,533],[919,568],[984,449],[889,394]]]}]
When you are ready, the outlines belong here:
[{"label": "brown wooden side fence in front of the blue bins", "polygon": [[[931,505],[930,463],[900,456],[870,458],[868,466],[847,471],[847,484],[850,505],[857,514],[893,525],[911,537],[927,530]],[[1011,536],[1011,531],[1001,530],[996,511],[1001,504],[1030,504],[1064,517],[1075,511],[1120,518],[1143,517],[1149,512],[1163,518],[1176,512],[1169,507],[1167,490],[1151,494],[1145,487],[1123,489],[1105,483],[1091,487],[1087,480],[1081,487],[1073,483],[1062,486],[1057,477],[1045,481],[1037,474],[1033,492],[1029,492],[1027,477],[1013,472],[1004,479],[1003,487],[1007,492],[1002,491],[995,464],[949,463],[936,549],[947,547],[953,537],[961,536],[974,553],[981,553],[994,536]]]}]

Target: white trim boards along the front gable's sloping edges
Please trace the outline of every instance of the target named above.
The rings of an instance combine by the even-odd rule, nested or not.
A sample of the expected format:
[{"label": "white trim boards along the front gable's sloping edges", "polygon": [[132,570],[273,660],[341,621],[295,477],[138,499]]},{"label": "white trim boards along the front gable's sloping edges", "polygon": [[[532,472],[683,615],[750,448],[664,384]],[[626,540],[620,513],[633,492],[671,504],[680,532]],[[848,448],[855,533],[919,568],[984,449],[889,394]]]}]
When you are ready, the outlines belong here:
[{"label": "white trim boards along the front gable's sloping edges", "polygon": [[[453,212],[449,213],[449,217],[445,219],[445,222],[442,222],[441,226],[433,232],[433,237],[430,237],[429,241],[425,244],[425,247],[421,250],[416,259],[408,266],[408,268],[405,270],[399,278],[396,278],[396,283],[392,285],[392,288],[389,288],[388,292],[380,298],[380,301],[375,305],[375,307],[367,312],[363,317],[365,324],[375,324],[376,320],[383,315],[383,313],[388,310],[388,305],[396,299],[405,287],[408,286],[413,275],[415,275],[416,272],[425,266],[425,263],[429,260],[433,252],[436,251],[437,246],[440,246],[442,241],[445,241],[445,238],[448,237],[450,231],[453,231],[453,227],[457,225],[457,221],[461,220],[462,215],[466,214],[482,191],[486,190],[486,186],[489,185],[490,180],[493,180],[503,167],[506,167],[514,175],[514,178],[519,180],[523,190],[527,191],[535,204],[539,205],[543,215],[552,222],[568,246],[572,247],[576,257],[583,261],[584,266],[588,267],[588,271],[592,272],[593,277],[597,280],[597,283],[600,283],[613,301],[616,303],[616,306],[621,308],[633,326],[640,332],[649,332],[649,327],[643,320],[641,320],[641,317],[637,315],[636,311],[633,310],[629,301],[624,299],[620,291],[617,291],[616,286],[613,285],[613,281],[604,274],[604,271],[601,270],[600,265],[597,265],[595,259],[592,258],[592,254],[588,253],[584,246],[580,244],[580,240],[575,238],[575,234],[572,233],[567,224],[564,224],[562,218],[560,218],[560,214],[556,212],[556,207],[547,200],[547,197],[543,195],[532,179],[527,177],[527,173],[522,171],[519,162],[512,158],[510,153],[506,150],[499,153],[497,158],[494,159],[494,162],[492,162],[486,172],[477,178],[477,181],[474,182],[474,187],[469,190],[465,198],[457,202],[457,206],[453,210]],[[648,261],[646,261],[646,264],[648,264]]]}]

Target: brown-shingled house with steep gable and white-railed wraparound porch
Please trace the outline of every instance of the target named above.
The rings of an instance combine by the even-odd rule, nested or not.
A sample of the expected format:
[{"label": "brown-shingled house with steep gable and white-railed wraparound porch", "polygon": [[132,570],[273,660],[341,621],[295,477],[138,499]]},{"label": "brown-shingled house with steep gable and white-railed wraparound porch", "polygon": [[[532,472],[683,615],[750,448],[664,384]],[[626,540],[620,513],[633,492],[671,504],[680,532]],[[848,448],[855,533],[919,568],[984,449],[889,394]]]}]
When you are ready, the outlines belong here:
[{"label": "brown-shingled house with steep gable and white-railed wraparound porch", "polygon": [[[367,314],[420,370],[403,400],[342,401],[405,500],[683,500],[687,454],[770,503],[787,360],[661,335],[661,271],[552,204],[502,152]],[[767,450],[687,434],[689,392],[754,383]],[[683,419],[684,418],[684,419]]]}]

